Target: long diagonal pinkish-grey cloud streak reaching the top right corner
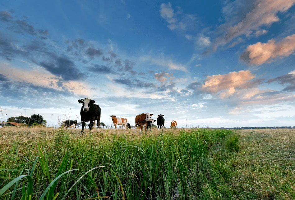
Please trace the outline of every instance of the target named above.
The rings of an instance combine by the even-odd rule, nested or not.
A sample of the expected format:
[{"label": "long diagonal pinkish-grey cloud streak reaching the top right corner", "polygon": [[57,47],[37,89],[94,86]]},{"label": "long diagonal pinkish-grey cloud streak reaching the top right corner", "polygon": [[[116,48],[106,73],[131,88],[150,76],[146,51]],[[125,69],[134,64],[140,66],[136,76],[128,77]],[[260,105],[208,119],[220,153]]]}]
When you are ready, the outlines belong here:
[{"label": "long diagonal pinkish-grey cloud streak reaching the top right corner", "polygon": [[[217,29],[219,37],[213,43],[214,51],[218,46],[226,44],[238,36],[247,36],[253,32],[263,33],[263,26],[278,22],[278,12],[287,11],[295,4],[295,0],[256,0],[249,2],[249,4],[251,6],[244,5],[240,0],[236,0],[224,7],[223,12],[227,22]],[[245,10],[242,10],[241,8],[244,7]],[[232,16],[231,13],[238,9],[246,15],[242,15],[244,17],[237,20],[237,16]]]}]

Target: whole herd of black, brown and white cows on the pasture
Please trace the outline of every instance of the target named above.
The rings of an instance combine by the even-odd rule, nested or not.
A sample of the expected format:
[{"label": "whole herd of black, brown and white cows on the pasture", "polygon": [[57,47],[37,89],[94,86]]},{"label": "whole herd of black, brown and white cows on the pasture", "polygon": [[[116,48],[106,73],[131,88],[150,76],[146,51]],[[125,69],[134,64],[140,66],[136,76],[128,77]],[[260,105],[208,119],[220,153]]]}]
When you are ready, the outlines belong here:
[{"label": "whole herd of black, brown and white cows on the pasture", "polygon": [[[93,128],[94,121],[97,120],[97,131],[99,131],[99,124],[100,124],[100,107],[97,104],[94,104],[95,101],[92,99],[79,99],[79,103],[83,104],[81,107],[80,115],[81,115],[81,122],[82,122],[82,130],[81,134],[84,132],[85,122],[89,122],[89,132],[91,133],[91,130]],[[141,133],[141,130],[143,127],[145,128],[145,131],[148,131],[148,128],[151,128],[151,126],[154,124],[156,120],[152,119],[151,116],[153,114],[150,113],[142,113],[139,115],[136,115],[135,117],[135,133],[136,133],[136,126],[139,126],[139,132]],[[157,118],[157,125],[159,130],[164,130],[164,123],[165,119],[163,117],[164,115],[158,115]],[[127,123],[126,118],[120,118],[116,117],[115,115],[111,115],[111,118],[113,120],[113,124],[115,126],[115,129],[117,129],[117,125],[123,125],[124,128],[131,128],[131,125]],[[74,127],[76,130],[77,120],[66,120],[63,122],[62,126],[64,128],[71,128]],[[172,121],[171,122],[171,128],[176,128],[177,122]]]}]

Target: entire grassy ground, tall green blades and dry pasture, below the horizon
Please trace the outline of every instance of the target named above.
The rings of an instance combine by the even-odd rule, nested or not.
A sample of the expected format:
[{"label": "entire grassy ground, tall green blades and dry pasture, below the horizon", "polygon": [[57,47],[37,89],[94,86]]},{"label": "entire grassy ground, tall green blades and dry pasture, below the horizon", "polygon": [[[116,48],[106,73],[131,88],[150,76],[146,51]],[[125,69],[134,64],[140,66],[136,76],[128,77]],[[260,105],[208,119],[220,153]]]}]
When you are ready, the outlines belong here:
[{"label": "entire grassy ground, tall green blades and dry pasture, below the horizon", "polygon": [[295,131],[0,129],[1,199],[295,199]]}]

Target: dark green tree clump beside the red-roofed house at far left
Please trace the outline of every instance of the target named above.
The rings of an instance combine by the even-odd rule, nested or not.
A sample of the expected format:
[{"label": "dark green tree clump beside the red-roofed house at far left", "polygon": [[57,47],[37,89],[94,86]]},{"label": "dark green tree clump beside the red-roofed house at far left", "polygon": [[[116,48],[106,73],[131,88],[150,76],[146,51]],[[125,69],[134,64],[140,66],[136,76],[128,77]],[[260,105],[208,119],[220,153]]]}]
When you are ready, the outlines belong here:
[{"label": "dark green tree clump beside the red-roofed house at far left", "polygon": [[29,126],[34,126],[34,125],[44,125],[46,126],[47,122],[46,120],[43,119],[41,115],[33,114],[30,117],[24,117],[24,116],[18,116],[18,117],[9,117],[7,119],[7,122],[16,122],[20,124],[26,124]]}]

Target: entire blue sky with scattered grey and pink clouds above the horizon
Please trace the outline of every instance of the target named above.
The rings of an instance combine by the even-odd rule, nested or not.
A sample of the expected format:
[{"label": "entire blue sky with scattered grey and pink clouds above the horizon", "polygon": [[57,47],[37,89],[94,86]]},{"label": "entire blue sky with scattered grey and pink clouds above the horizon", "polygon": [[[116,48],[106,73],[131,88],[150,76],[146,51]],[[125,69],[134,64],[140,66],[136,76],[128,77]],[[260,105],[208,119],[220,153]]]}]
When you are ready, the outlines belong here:
[{"label": "entire blue sky with scattered grey and pink clouds above the horizon", "polygon": [[0,2],[0,118],[295,126],[295,0]]}]

